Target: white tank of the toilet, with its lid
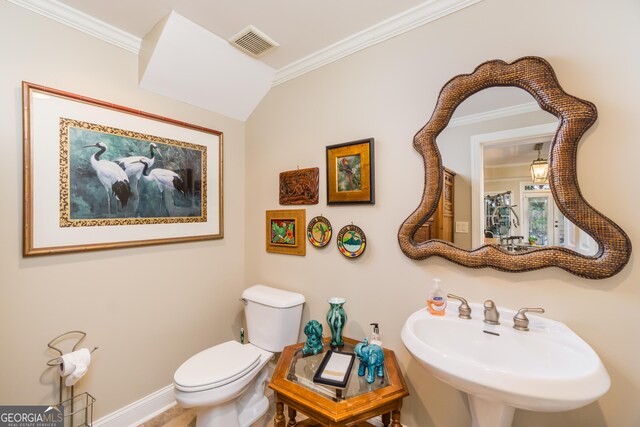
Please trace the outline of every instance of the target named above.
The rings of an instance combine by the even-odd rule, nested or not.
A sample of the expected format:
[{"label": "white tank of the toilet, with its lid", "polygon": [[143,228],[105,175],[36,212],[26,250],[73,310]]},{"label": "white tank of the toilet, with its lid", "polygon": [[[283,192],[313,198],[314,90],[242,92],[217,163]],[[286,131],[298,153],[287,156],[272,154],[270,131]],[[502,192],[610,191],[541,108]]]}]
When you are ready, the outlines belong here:
[{"label": "white tank of the toilet, with its lid", "polygon": [[298,342],[304,295],[255,285],[242,293],[249,341],[272,353]]}]

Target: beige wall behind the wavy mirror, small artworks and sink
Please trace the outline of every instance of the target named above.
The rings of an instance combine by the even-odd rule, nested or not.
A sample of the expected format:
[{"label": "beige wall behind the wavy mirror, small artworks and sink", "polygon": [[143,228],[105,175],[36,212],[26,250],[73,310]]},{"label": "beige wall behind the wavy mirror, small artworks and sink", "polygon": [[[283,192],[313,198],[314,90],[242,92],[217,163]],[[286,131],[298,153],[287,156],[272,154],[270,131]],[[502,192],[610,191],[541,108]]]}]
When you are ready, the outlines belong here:
[{"label": "beige wall behind the wavy mirror, small artworks and sink", "polygon": [[[634,427],[640,425],[640,272],[635,263],[611,279],[591,281],[560,269],[506,274],[471,270],[433,258],[413,261],[397,243],[401,222],[422,195],[423,170],[412,137],[430,117],[441,86],[488,59],[546,58],[569,93],[590,100],[599,120],[578,149],[585,198],[613,218],[636,242],[640,182],[640,4],[597,0],[485,0],[383,44],[274,88],[247,123],[246,283],[264,282],[302,292],[305,319],[322,320],[330,296],[346,297],[347,334],[363,338],[380,322],[410,387],[404,424],[466,427],[465,397],[418,366],[400,341],[404,319],[424,306],[431,279],[447,291],[499,305],[542,306],[566,322],[600,354],[612,378],[597,403],[558,414],[517,411],[517,427]],[[376,139],[376,205],[327,206],[325,146]],[[278,173],[319,166],[323,214],[334,233],[353,221],[368,247],[355,260],[335,240],[307,245],[306,257],[265,252],[264,211],[278,209]],[[597,172],[594,172],[597,171]]]}]

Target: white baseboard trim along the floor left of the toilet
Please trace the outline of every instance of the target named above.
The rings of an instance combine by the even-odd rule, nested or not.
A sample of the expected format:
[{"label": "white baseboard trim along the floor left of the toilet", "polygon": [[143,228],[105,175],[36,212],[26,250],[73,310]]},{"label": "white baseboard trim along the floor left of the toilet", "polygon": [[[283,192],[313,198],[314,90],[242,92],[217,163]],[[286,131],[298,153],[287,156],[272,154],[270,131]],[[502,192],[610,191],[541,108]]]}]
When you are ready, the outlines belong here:
[{"label": "white baseboard trim along the floor left of the toilet", "polygon": [[94,427],[136,427],[176,405],[173,384],[161,388],[93,423]]}]

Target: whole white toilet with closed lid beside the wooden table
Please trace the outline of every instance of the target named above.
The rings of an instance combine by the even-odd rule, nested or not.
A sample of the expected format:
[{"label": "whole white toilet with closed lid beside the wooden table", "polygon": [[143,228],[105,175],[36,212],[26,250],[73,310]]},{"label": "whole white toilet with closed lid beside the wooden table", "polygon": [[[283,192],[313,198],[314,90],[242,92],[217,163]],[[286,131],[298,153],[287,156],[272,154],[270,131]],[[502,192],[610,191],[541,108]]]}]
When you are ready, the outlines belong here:
[{"label": "whole white toilet with closed lid beside the wooden table", "polygon": [[198,408],[196,427],[247,427],[267,411],[264,388],[273,353],[298,342],[304,296],[256,285],[242,293],[250,344],[208,348],[173,376],[176,401]]}]

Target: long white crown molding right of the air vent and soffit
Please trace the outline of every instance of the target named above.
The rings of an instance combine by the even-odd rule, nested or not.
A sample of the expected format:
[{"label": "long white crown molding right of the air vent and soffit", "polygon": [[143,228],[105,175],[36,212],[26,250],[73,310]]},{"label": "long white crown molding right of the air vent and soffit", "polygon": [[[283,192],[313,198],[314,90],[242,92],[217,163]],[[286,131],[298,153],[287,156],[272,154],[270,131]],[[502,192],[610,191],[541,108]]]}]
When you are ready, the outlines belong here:
[{"label": "long white crown molding right of the air vent and soffit", "polygon": [[299,77],[345,56],[406,33],[482,0],[430,0],[346,39],[321,49],[276,72],[273,86]]}]

